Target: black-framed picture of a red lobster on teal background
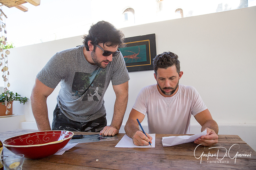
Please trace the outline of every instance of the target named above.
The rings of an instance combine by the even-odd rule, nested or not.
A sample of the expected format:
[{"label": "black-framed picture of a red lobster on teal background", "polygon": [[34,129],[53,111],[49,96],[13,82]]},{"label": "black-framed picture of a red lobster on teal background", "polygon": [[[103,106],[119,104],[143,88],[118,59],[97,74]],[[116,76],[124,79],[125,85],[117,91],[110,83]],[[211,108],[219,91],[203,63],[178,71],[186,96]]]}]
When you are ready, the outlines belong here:
[{"label": "black-framed picture of a red lobster on teal background", "polygon": [[148,34],[124,39],[126,47],[119,48],[124,56],[126,68],[131,71],[146,71],[153,69],[153,59],[156,56],[156,35]]}]

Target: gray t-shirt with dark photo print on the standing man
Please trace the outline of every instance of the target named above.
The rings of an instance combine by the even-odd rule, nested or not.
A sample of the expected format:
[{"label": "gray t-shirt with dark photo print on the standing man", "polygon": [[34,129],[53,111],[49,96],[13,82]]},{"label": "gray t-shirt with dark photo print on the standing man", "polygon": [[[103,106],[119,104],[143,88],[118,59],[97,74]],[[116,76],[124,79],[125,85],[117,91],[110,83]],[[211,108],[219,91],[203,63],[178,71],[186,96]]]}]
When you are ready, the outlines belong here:
[{"label": "gray t-shirt with dark photo print on the standing man", "polygon": [[50,88],[60,83],[58,106],[64,115],[77,122],[105,115],[103,97],[110,80],[112,85],[120,85],[130,79],[121,53],[101,69],[87,62],[83,48],[82,45],[56,53],[36,76]]}]

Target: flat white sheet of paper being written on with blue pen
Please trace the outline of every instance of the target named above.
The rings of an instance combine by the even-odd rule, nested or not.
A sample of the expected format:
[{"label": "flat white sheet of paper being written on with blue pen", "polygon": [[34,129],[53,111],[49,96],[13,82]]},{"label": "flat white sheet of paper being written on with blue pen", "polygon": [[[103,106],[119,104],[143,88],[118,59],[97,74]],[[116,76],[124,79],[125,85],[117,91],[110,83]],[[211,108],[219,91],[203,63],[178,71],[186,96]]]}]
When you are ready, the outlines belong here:
[{"label": "flat white sheet of paper being written on with blue pen", "polygon": [[155,147],[155,139],[156,139],[156,134],[148,134],[149,136],[153,137],[152,139],[152,144],[150,145],[143,145],[143,146],[136,146],[132,142],[132,138],[128,137],[126,134],[122,139],[116,144],[115,148],[154,148]]}]

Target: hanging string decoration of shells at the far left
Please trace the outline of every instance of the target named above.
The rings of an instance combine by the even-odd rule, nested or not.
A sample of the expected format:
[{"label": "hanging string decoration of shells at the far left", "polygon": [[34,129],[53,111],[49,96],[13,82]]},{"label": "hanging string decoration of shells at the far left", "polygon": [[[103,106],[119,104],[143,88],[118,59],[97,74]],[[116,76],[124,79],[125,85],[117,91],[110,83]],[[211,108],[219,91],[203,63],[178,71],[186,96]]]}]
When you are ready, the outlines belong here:
[{"label": "hanging string decoration of shells at the far left", "polygon": [[[8,55],[10,51],[7,50],[6,41],[7,41],[7,31],[6,31],[6,24],[5,19],[7,18],[6,15],[2,10],[0,10],[0,69],[2,70],[2,78],[4,80],[4,93],[6,93],[5,99],[5,106],[6,112],[5,114],[8,115],[9,110],[7,108],[11,108],[12,105],[10,103],[10,93],[9,93],[9,71],[8,71]],[[7,99],[8,98],[8,99]]]}]

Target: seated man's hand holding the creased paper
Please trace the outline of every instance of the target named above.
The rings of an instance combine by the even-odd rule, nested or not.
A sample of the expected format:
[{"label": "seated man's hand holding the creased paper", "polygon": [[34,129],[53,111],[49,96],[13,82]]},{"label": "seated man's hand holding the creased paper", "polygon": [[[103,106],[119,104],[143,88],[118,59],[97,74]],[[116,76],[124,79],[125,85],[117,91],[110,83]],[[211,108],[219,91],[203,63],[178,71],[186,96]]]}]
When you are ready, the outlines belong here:
[{"label": "seated man's hand holding the creased paper", "polygon": [[205,146],[212,146],[218,143],[218,135],[214,132],[214,130],[205,128],[207,130],[207,134],[205,136],[201,136],[194,141],[195,144],[204,144]]}]

